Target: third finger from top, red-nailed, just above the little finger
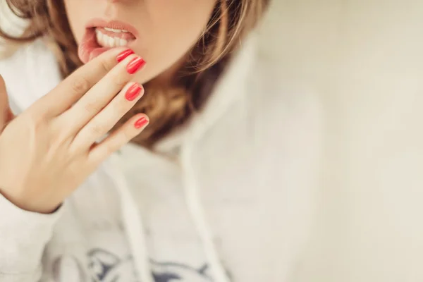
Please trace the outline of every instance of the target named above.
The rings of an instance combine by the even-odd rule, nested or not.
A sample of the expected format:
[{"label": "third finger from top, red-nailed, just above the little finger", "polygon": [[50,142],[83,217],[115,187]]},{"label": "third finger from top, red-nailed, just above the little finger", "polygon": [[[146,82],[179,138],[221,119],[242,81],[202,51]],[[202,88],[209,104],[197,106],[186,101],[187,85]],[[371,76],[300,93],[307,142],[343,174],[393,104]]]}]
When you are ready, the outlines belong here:
[{"label": "third finger from top, red-nailed, just above the little finger", "polygon": [[104,137],[142,97],[144,88],[130,82],[114,99],[75,136],[72,146],[85,149]]}]

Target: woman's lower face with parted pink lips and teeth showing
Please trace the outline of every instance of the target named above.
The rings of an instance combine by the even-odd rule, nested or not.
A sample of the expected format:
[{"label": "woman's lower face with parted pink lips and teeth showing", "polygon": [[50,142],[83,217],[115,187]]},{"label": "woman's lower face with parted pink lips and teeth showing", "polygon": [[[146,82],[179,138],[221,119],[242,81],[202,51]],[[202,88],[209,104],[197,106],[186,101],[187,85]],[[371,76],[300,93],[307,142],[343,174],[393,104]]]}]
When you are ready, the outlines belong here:
[{"label": "woman's lower face with parted pink lips and teeth showing", "polygon": [[[137,82],[173,73],[202,35],[217,0],[64,0],[87,63],[102,51],[128,46],[147,61]],[[110,29],[112,28],[112,30]]]}]

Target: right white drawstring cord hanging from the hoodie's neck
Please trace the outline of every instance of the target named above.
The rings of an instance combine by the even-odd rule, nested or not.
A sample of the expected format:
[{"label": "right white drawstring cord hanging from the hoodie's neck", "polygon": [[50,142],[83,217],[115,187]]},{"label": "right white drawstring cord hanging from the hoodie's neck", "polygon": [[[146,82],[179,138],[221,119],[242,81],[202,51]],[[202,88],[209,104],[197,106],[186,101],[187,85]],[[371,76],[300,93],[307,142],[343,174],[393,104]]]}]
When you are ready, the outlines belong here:
[{"label": "right white drawstring cord hanging from the hoodie's neck", "polygon": [[230,282],[226,275],[226,271],[219,259],[216,246],[214,245],[212,232],[207,226],[204,209],[202,208],[200,195],[198,193],[197,184],[195,183],[195,171],[193,170],[190,162],[190,148],[183,146],[181,149],[181,163],[183,166],[184,178],[183,186],[185,189],[185,199],[188,205],[188,210],[192,217],[197,232],[200,235],[207,262],[210,264],[210,269],[215,282]]}]

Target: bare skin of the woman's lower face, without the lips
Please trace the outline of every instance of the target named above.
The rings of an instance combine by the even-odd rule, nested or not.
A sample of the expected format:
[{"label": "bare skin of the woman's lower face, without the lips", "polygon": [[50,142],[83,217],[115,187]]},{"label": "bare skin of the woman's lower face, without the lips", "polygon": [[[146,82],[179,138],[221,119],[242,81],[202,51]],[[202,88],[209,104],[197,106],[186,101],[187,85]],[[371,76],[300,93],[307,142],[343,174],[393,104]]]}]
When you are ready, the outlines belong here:
[{"label": "bare skin of the woman's lower face, without the lips", "polygon": [[121,20],[133,25],[139,38],[129,47],[147,61],[135,76],[166,84],[207,26],[217,0],[64,0],[76,42],[92,18]]}]

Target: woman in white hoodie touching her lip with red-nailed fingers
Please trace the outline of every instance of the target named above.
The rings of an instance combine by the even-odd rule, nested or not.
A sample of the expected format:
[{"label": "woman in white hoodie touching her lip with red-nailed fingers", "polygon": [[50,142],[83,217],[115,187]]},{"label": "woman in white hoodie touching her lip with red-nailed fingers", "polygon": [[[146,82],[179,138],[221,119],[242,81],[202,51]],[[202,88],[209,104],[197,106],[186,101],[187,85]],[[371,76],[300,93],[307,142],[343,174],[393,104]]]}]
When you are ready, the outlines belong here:
[{"label": "woman in white hoodie touching her lip with red-nailed fingers", "polygon": [[267,0],[7,3],[0,281],[290,275],[319,110],[260,52]]}]

